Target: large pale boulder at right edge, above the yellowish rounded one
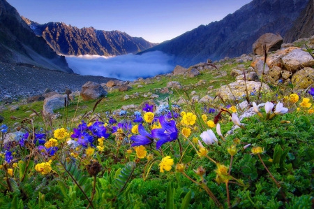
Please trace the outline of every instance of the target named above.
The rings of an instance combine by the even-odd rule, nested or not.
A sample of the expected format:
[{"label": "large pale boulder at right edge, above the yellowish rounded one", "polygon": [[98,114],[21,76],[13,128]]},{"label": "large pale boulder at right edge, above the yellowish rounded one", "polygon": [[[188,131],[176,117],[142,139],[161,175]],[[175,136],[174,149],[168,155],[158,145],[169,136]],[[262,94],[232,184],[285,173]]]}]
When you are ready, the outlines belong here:
[{"label": "large pale boulder at right edge, above the yellowish rounded one", "polygon": [[301,67],[314,66],[314,59],[308,52],[301,49],[292,50],[289,54],[282,58],[285,69],[292,73],[299,70]]}]

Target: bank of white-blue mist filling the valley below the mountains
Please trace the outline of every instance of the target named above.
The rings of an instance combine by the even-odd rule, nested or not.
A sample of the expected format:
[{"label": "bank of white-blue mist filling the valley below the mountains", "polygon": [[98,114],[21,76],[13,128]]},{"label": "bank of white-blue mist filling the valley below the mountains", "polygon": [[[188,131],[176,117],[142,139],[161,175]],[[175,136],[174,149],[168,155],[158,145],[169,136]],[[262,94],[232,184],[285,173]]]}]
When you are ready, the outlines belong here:
[{"label": "bank of white-blue mist filling the valley below the mountains", "polygon": [[120,80],[135,80],[169,73],[174,66],[171,57],[163,52],[147,52],[143,55],[99,55],[67,56],[68,66],[80,75],[101,75]]}]

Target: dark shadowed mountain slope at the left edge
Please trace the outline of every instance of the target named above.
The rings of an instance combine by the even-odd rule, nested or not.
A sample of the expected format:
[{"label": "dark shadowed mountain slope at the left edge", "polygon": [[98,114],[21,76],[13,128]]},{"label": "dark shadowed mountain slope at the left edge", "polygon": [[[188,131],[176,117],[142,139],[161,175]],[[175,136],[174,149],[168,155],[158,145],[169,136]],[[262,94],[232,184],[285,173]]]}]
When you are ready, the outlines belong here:
[{"label": "dark shadowed mountain slope at the left edge", "polygon": [[37,37],[5,0],[0,0],[0,61],[73,73],[65,57],[57,55],[43,38]]}]

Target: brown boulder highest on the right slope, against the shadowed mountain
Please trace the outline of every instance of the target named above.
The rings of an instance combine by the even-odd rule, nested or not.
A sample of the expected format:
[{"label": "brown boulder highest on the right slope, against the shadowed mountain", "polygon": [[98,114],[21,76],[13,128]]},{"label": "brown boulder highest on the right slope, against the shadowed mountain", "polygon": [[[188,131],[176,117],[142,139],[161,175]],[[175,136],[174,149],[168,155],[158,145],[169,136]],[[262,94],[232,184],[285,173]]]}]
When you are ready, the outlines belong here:
[{"label": "brown boulder highest on the right slope, against the shadowed mountain", "polygon": [[279,50],[282,43],[283,37],[281,37],[281,35],[271,33],[264,34],[253,43],[253,53],[262,56],[264,55],[263,45],[266,45],[266,52],[273,52]]}]

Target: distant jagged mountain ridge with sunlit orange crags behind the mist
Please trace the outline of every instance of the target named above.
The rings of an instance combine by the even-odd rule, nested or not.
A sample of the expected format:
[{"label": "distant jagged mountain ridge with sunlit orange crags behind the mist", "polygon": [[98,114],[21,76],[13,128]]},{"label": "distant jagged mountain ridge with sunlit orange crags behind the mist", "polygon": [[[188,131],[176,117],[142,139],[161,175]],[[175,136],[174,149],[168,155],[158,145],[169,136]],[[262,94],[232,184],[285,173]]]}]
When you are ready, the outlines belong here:
[{"label": "distant jagged mountain ridge with sunlit orange crags behind the mist", "polygon": [[23,19],[37,36],[45,38],[51,48],[62,55],[126,55],[156,45],[121,31],[101,31],[93,27],[78,29],[63,22],[38,24]]}]

